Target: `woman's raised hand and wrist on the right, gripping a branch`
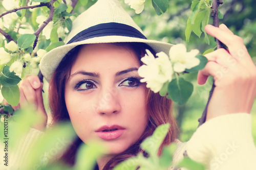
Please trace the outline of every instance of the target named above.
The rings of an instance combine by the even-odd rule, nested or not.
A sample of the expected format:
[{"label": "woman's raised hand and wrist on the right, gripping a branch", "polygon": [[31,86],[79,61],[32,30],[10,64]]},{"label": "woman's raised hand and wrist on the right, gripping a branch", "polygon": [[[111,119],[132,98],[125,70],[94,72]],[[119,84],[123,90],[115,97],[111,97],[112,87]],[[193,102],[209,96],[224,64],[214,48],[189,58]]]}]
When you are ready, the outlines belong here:
[{"label": "woman's raised hand and wrist on the right, gripping a branch", "polygon": [[198,83],[214,77],[215,90],[207,108],[206,121],[230,113],[250,113],[256,95],[256,67],[241,37],[234,35],[224,24],[219,28],[207,25],[205,31],[223,42],[220,48],[205,57],[208,63],[198,72]]}]

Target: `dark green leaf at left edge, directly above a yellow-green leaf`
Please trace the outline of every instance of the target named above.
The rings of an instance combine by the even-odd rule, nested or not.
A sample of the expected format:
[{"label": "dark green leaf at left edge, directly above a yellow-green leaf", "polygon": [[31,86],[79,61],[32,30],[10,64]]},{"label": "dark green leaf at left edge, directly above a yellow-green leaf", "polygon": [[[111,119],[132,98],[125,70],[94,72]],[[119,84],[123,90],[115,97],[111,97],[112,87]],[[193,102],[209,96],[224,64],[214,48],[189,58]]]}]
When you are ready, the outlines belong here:
[{"label": "dark green leaf at left edge, directly above a yellow-green leaf", "polygon": [[3,74],[0,76],[0,83],[5,87],[14,86],[22,80],[16,76],[13,71],[10,72],[9,68],[10,67],[6,65],[3,68]]}]

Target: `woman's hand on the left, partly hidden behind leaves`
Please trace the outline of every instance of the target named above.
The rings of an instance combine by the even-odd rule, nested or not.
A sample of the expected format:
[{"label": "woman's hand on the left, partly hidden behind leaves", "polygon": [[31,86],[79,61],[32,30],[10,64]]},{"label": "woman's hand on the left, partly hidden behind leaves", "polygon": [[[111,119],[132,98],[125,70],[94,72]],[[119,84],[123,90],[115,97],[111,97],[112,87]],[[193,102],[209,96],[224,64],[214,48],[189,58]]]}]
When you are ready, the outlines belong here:
[{"label": "woman's hand on the left, partly hidden behind leaves", "polygon": [[16,109],[25,109],[28,105],[32,105],[37,111],[36,113],[41,116],[40,124],[33,128],[44,130],[47,124],[47,113],[45,111],[44,101],[42,99],[42,86],[39,78],[35,75],[30,75],[22,80],[19,84],[19,105],[13,107]]}]

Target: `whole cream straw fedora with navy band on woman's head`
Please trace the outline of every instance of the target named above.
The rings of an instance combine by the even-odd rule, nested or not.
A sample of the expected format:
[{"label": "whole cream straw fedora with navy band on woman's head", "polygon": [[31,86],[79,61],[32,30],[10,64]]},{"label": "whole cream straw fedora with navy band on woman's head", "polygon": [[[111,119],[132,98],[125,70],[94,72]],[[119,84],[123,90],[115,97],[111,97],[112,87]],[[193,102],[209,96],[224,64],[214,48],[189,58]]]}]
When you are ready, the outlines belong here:
[{"label": "whole cream straw fedora with navy band on woman's head", "polygon": [[148,40],[117,0],[98,0],[74,21],[65,45],[48,52],[40,61],[42,75],[49,82],[62,58],[77,45],[112,42],[143,42],[156,53],[168,54],[172,44]]}]

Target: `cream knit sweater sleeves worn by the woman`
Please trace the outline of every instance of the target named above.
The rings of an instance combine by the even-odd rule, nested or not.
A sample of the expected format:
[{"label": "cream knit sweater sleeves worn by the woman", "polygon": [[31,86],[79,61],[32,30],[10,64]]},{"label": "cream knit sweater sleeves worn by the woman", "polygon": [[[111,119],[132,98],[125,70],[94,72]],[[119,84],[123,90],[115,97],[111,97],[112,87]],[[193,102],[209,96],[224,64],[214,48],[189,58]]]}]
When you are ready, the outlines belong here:
[{"label": "cream knit sweater sleeves worn by the woman", "polygon": [[[179,142],[174,163],[183,159],[184,151],[189,158],[201,162],[210,170],[256,169],[256,148],[251,134],[252,118],[247,113],[218,116],[200,126],[187,142]],[[34,140],[42,132],[31,129],[18,149],[9,155],[4,165],[4,145],[0,144],[0,169],[18,169],[26,162],[26,154]],[[172,168],[170,168],[172,169]],[[157,169],[156,169],[157,170]]]}]

